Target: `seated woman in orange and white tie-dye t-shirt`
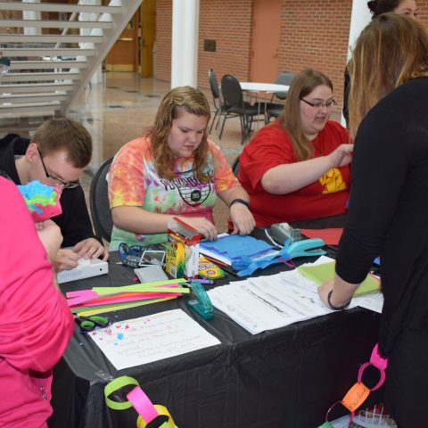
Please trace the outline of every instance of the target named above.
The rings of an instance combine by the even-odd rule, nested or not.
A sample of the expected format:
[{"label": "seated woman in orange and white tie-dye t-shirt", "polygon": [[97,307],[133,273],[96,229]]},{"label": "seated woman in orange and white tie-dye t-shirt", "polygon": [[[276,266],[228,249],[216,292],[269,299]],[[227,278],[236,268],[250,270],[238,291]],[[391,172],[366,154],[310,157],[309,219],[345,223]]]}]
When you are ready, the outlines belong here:
[{"label": "seated woman in orange and white tie-dye t-shirt", "polygon": [[208,139],[209,119],[210,105],[201,91],[176,87],[163,98],[147,135],[116,154],[109,173],[111,250],[119,243],[166,242],[173,217],[216,239],[212,210],[217,196],[230,207],[233,233],[251,233],[248,194]]}]

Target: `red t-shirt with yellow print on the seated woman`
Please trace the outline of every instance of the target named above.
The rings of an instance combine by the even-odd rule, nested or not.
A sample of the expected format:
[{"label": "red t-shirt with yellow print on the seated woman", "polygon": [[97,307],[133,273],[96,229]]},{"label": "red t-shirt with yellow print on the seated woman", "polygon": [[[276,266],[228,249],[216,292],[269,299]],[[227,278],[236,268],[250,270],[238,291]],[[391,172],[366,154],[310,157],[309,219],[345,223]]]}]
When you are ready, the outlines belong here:
[{"label": "red t-shirt with yellow print on the seated woman", "polygon": [[[312,143],[314,157],[325,156],[341,144],[350,143],[348,131],[328,120]],[[315,183],[288,194],[271,194],[261,178],[278,165],[297,162],[292,140],[276,120],[260,129],[240,156],[238,179],[250,194],[251,212],[257,226],[328,217],[346,212],[350,193],[350,166],[330,169]]]}]

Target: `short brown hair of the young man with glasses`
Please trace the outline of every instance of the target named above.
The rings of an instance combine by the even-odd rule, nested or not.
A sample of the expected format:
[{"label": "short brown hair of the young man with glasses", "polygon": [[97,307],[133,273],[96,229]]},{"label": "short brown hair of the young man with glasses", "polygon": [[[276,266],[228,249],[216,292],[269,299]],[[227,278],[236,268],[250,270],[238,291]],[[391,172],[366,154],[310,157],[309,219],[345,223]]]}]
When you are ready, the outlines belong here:
[{"label": "short brown hair of the young man with glasses", "polygon": [[44,156],[65,149],[68,152],[68,161],[74,168],[85,168],[91,161],[92,137],[76,120],[46,120],[37,128],[31,142],[37,144]]}]

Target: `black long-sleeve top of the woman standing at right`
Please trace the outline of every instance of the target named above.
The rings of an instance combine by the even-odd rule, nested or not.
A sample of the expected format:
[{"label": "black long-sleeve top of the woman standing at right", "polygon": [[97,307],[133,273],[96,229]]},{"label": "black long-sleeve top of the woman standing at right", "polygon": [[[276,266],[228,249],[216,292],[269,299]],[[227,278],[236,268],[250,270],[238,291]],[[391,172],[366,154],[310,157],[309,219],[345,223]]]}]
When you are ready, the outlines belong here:
[{"label": "black long-sleeve top of the woman standing at right", "polygon": [[381,256],[383,355],[403,326],[428,329],[427,100],[428,78],[399,86],[366,114],[355,139],[336,272],[358,284]]}]

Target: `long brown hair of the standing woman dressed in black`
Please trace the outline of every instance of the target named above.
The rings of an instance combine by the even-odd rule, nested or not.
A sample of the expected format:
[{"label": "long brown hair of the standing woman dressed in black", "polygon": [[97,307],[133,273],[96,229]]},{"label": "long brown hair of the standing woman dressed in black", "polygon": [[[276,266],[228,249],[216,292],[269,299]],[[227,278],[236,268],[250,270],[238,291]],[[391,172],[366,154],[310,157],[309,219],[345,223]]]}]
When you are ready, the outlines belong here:
[{"label": "long brown hair of the standing woman dressed in black", "polygon": [[349,65],[350,134],[374,104],[412,78],[428,76],[428,32],[405,15],[385,13],[358,37]]}]

